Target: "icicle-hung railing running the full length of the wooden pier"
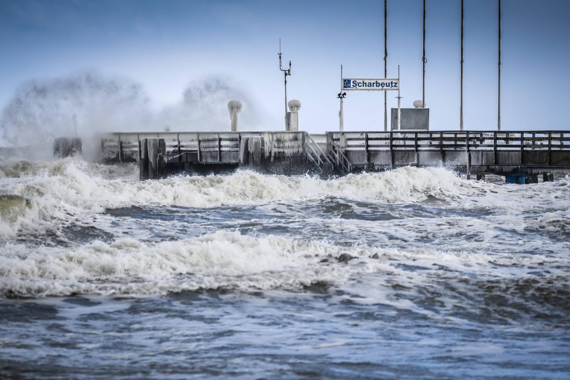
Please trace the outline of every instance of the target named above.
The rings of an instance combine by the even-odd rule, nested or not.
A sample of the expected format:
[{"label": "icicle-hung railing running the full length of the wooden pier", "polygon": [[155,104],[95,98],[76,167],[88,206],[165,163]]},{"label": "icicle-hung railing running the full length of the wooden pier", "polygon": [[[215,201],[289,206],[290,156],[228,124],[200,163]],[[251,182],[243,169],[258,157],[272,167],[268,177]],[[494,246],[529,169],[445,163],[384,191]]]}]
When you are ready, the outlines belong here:
[{"label": "icicle-hung railing running the full length of the wooden pier", "polygon": [[[327,162],[344,173],[355,168],[386,170],[398,166],[454,166],[458,170],[492,167],[570,168],[570,131],[393,131],[327,132],[145,132],[101,136],[104,157],[136,161],[142,138],[164,139],[168,163],[239,164],[242,137],[259,137],[266,160]],[[500,166],[500,168],[498,168]]]}]

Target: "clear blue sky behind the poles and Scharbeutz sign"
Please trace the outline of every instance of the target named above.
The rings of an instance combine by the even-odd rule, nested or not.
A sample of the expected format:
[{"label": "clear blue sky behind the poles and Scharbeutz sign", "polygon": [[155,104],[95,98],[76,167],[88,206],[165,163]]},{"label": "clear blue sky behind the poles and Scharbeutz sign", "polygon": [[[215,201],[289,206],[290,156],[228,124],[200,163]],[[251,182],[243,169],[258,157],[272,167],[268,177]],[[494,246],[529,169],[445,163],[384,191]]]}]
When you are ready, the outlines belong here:
[{"label": "clear blue sky behind the poles and Scharbeutz sign", "polygon": [[[496,128],[496,4],[465,0],[466,129]],[[569,129],[570,1],[502,4],[503,129]],[[459,125],[460,9],[459,0],[427,0],[432,130]],[[382,1],[3,0],[0,108],[25,81],[95,69],[139,82],[159,113],[180,103],[190,84],[216,75],[255,103],[243,115],[263,113],[257,129],[281,129],[282,38],[283,58],[292,61],[288,98],[302,102],[300,129],[336,130],[340,64],[345,77],[384,76],[383,13]],[[388,54],[388,77],[400,64],[402,107],[412,107],[422,95],[422,0],[388,1]],[[388,107],[396,107],[395,96],[388,93]],[[345,130],[382,129],[383,98],[349,93]]]}]

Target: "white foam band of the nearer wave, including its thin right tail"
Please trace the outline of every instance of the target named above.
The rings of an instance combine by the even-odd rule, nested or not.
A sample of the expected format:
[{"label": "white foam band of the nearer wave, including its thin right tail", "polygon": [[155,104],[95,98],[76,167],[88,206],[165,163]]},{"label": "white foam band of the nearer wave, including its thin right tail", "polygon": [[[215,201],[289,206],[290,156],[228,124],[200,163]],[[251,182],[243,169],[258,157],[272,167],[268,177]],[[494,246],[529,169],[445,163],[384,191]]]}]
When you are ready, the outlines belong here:
[{"label": "white foam band of the nearer wave, including its thin right tail", "polygon": [[[355,258],[348,263],[337,260],[343,254]],[[389,273],[398,275],[399,283],[420,284],[438,269],[434,264],[461,275],[477,273],[479,278],[500,278],[524,277],[524,265],[548,260],[553,263],[549,265],[552,275],[564,275],[560,265],[570,264],[564,258],[540,255],[339,247],[286,236],[227,231],[159,243],[135,239],[119,239],[111,244],[97,241],[64,250],[6,243],[0,248],[0,295],[164,295],[200,288],[299,289],[317,281],[347,283],[358,273]],[[395,263],[427,269],[410,272],[390,265]],[[437,273],[442,275],[441,271]]]}]

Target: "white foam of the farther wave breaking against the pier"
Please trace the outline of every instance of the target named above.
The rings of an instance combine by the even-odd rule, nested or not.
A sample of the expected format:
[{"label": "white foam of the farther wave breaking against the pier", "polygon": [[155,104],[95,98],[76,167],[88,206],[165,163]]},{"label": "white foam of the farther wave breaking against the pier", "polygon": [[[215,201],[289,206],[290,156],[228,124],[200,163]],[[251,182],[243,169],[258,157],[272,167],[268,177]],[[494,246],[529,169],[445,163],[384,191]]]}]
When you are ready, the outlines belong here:
[{"label": "white foam of the farther wave breaking against the pier", "polygon": [[30,210],[18,220],[0,220],[0,238],[54,228],[58,220],[64,223],[86,213],[146,205],[203,208],[327,197],[372,203],[413,203],[432,196],[441,199],[438,207],[501,208],[507,213],[509,210],[519,213],[529,209],[570,209],[568,178],[538,185],[495,185],[466,181],[443,168],[402,167],[329,181],[238,171],[232,175],[144,182],[138,181],[136,165],[97,165],[80,158],[0,169],[5,175],[18,177],[0,179],[0,193],[22,195],[31,200]]}]

